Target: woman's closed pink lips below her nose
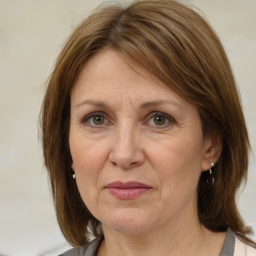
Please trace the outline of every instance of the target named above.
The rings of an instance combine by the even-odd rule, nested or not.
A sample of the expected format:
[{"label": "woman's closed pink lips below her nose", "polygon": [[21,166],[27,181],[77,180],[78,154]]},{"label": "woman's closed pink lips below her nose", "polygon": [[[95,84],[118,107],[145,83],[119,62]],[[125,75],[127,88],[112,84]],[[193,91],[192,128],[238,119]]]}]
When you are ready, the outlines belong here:
[{"label": "woman's closed pink lips below her nose", "polygon": [[118,199],[134,199],[146,193],[152,187],[136,181],[125,183],[117,181],[107,184],[105,188]]}]

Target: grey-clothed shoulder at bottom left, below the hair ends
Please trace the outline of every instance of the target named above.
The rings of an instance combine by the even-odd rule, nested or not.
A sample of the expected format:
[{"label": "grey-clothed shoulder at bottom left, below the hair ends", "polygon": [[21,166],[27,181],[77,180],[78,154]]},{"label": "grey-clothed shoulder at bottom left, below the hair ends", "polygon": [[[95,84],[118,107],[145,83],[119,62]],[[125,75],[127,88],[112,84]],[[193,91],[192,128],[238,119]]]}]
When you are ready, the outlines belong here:
[{"label": "grey-clothed shoulder at bottom left, below the hair ends", "polygon": [[101,241],[101,237],[95,238],[86,245],[69,249],[64,253],[60,254],[59,256],[94,256],[96,255],[97,249]]}]

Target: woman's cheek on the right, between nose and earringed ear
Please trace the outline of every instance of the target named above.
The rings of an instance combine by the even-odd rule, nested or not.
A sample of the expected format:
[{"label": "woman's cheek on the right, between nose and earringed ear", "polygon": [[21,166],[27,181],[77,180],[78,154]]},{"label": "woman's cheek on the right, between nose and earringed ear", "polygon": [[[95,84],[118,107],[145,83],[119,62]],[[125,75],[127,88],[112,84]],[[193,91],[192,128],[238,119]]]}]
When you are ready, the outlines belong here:
[{"label": "woman's cheek on the right, between nose and earringed ear", "polygon": [[163,189],[180,194],[193,191],[201,173],[202,139],[172,137],[159,145],[151,146],[148,158],[161,181]]}]

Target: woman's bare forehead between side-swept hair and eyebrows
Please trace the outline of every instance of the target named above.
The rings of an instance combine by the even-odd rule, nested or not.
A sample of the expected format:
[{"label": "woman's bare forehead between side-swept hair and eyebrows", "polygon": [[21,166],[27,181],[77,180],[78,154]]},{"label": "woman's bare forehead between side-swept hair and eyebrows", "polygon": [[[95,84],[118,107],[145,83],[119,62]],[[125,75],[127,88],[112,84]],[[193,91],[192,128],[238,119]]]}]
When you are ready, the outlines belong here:
[{"label": "woman's bare forehead between side-swept hair and eyebrows", "polygon": [[82,100],[84,96],[135,98],[138,94],[140,99],[181,98],[137,61],[106,49],[83,65],[71,90],[71,101]]}]

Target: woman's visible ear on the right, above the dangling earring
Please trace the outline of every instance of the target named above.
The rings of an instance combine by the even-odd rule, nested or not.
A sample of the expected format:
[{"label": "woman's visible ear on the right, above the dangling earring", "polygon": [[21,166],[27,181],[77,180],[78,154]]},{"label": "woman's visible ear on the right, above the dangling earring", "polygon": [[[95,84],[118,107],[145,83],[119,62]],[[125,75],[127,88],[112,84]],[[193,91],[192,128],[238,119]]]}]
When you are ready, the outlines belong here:
[{"label": "woman's visible ear on the right, above the dangling earring", "polygon": [[211,162],[215,165],[222,151],[222,144],[222,138],[217,134],[212,134],[204,139],[202,171],[211,168]]}]

